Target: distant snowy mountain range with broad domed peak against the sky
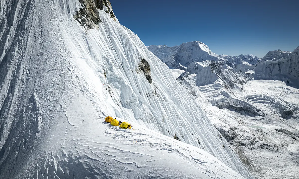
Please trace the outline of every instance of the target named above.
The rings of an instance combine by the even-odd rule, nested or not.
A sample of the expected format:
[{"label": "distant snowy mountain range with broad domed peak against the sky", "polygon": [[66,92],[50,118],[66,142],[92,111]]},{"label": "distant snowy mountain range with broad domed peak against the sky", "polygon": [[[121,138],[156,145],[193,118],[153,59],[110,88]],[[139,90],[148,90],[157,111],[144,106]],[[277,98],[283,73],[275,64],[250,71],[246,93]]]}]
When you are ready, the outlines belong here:
[{"label": "distant snowy mountain range with broad domed peak against the sky", "polygon": [[194,61],[221,61],[231,67],[236,67],[239,64],[255,65],[260,61],[260,58],[254,55],[217,55],[200,41],[187,42],[174,47],[150,45],[147,48],[169,67],[181,70],[185,70],[181,66],[187,67]]}]

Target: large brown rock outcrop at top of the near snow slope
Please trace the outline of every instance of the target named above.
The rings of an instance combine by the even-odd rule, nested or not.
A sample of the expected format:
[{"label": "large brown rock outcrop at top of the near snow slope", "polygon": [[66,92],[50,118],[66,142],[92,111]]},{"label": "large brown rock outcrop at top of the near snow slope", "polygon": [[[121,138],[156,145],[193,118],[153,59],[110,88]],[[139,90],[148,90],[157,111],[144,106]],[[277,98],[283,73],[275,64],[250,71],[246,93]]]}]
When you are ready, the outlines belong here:
[{"label": "large brown rock outcrop at top of the near snow slope", "polygon": [[110,18],[116,21],[109,0],[79,0],[79,9],[76,11],[74,18],[80,22],[83,27],[93,29],[101,22],[99,10],[104,10]]}]

